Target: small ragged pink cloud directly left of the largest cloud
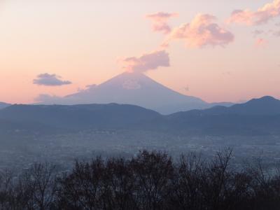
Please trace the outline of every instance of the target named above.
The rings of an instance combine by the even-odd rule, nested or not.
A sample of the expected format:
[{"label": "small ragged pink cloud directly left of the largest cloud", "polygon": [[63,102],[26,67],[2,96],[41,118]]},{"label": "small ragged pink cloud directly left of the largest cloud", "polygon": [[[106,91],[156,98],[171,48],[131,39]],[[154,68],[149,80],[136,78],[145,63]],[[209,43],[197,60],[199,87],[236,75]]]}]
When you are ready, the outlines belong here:
[{"label": "small ragged pink cloud directly left of the largest cloud", "polygon": [[153,13],[146,15],[146,18],[152,20],[153,31],[161,31],[163,34],[169,34],[172,31],[171,27],[167,24],[169,18],[174,18],[178,16],[177,13]]}]

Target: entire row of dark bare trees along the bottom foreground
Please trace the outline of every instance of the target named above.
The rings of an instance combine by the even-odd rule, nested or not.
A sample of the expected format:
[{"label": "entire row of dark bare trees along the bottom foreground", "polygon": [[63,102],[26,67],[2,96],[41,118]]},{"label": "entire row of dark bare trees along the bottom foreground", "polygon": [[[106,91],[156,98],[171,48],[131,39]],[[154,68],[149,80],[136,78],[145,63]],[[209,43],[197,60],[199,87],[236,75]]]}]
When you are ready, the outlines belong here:
[{"label": "entire row of dark bare trees along the bottom foreground", "polygon": [[66,174],[34,164],[18,176],[1,173],[0,209],[279,209],[280,174],[269,176],[260,164],[237,172],[231,155],[174,163],[142,151],[130,160],[76,162]]}]

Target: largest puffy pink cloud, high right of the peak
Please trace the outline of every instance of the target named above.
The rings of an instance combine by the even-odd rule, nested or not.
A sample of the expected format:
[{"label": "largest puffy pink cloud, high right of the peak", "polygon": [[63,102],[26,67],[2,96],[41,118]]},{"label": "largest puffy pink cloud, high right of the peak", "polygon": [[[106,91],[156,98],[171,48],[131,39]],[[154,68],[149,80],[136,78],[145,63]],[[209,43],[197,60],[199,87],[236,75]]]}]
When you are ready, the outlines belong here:
[{"label": "largest puffy pink cloud, high right of the peak", "polygon": [[235,36],[228,30],[220,27],[216,17],[208,14],[198,14],[190,22],[176,27],[169,34],[163,46],[172,40],[182,39],[188,47],[202,48],[206,45],[225,46],[234,41]]}]

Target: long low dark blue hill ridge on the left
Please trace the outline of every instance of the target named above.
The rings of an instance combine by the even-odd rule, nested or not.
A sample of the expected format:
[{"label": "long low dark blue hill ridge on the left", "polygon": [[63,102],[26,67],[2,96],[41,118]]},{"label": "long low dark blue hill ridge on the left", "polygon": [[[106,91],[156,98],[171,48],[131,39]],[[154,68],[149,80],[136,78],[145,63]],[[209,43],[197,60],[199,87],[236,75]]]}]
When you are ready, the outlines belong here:
[{"label": "long low dark blue hill ridge on the left", "polygon": [[159,113],[139,106],[118,104],[13,105],[0,111],[2,120],[68,130],[124,128],[158,116]]}]

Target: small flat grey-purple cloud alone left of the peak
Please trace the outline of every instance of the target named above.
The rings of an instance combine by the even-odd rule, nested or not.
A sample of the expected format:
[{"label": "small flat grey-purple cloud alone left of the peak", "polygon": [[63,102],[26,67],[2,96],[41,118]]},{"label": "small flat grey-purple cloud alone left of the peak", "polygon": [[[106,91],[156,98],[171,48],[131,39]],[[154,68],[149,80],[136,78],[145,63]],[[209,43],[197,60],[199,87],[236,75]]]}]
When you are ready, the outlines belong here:
[{"label": "small flat grey-purple cloud alone left of the peak", "polygon": [[36,85],[45,85],[45,86],[61,86],[69,85],[71,81],[62,80],[60,76],[50,73],[41,73],[33,80],[33,83]]}]

